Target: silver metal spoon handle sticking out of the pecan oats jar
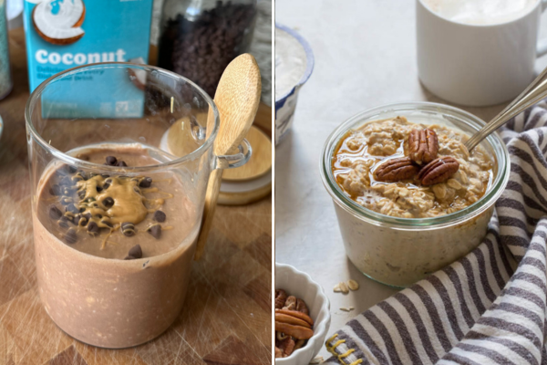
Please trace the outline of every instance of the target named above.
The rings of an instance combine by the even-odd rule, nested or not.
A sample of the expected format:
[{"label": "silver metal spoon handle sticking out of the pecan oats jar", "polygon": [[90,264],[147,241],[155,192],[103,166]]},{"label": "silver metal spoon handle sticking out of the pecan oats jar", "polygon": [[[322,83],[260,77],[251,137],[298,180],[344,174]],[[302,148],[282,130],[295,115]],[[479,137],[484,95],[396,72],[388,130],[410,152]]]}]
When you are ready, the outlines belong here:
[{"label": "silver metal spoon handle sticking out of the pecan oats jar", "polygon": [[493,120],[490,120],[481,130],[473,134],[473,136],[465,143],[468,151],[477,146],[480,141],[484,140],[494,130],[500,128],[511,118],[519,115],[522,111],[531,107],[535,103],[547,97],[547,68],[545,68],[540,76],[532,81],[532,84],[528,86],[521,95],[511,101],[501,113],[498,114]]}]

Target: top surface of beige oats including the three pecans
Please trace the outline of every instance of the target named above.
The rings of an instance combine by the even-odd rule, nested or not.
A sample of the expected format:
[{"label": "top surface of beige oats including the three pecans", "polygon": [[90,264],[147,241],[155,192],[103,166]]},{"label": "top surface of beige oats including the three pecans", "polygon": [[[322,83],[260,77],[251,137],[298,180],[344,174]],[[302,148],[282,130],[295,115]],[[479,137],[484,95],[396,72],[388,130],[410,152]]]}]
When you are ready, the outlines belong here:
[{"label": "top surface of beige oats including the three pecans", "polygon": [[467,139],[405,117],[368,122],[347,132],[335,151],[333,173],[356,203],[377,213],[451,214],[479,201],[493,179],[495,161],[480,146],[469,153]]}]

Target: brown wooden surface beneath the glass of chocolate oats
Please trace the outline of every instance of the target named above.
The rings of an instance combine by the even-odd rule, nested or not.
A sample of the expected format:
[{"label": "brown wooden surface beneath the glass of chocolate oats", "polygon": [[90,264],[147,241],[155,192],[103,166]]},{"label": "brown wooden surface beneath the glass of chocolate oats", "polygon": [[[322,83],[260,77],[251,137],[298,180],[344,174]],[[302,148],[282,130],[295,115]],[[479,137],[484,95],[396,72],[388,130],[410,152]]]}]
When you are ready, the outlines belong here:
[{"label": "brown wooden surface beneath the glass of chocolate oats", "polygon": [[23,29],[10,33],[15,87],[0,101],[0,364],[271,363],[271,198],[219,206],[185,307],[158,339],[98,349],[57,328],[40,303],[30,215]]}]

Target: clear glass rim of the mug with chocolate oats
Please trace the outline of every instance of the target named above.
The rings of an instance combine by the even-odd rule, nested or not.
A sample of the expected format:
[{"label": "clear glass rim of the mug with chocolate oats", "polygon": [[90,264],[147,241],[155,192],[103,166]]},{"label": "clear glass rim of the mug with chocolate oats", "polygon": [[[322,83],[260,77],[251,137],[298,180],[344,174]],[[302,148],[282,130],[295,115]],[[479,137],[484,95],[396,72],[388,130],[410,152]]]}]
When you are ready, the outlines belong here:
[{"label": "clear glass rim of the mug with chocolate oats", "polygon": [[[40,98],[42,95],[42,92],[46,89],[48,85],[50,85],[52,82],[67,77],[67,75],[77,73],[81,71],[82,69],[93,69],[93,68],[140,68],[145,71],[157,71],[162,75],[168,76],[170,78],[175,79],[181,79],[185,83],[188,83],[191,85],[193,89],[196,89],[201,97],[209,104],[210,108],[212,109],[213,117],[214,117],[214,125],[212,132],[206,137],[206,140],[201,144],[200,147],[195,149],[194,151],[191,151],[190,153],[171,160],[169,162],[161,162],[153,165],[146,165],[146,166],[124,166],[124,167],[118,167],[118,166],[109,166],[105,164],[98,164],[94,162],[88,162],[84,160],[77,159],[76,157],[70,156],[67,153],[63,151],[57,150],[55,147],[51,146],[38,131],[36,130],[32,118],[31,118],[31,111],[34,110],[36,100]],[[32,135],[32,138],[35,139],[35,141],[46,151],[51,152],[51,154],[61,162],[65,162],[69,165],[75,165],[78,167],[91,169],[91,170],[98,170],[98,171],[105,171],[105,172],[151,172],[155,170],[163,170],[165,168],[170,168],[176,165],[179,165],[183,162],[187,161],[193,161],[196,158],[200,157],[205,151],[208,151],[209,148],[212,146],[212,143],[214,142],[220,125],[220,114],[219,110],[214,103],[214,100],[207,94],[203,89],[201,89],[196,83],[191,81],[188,78],[184,78],[183,76],[176,74],[174,72],[171,72],[164,68],[158,68],[155,66],[150,65],[142,65],[142,64],[136,64],[131,62],[98,62],[98,63],[92,63],[88,65],[82,65],[77,66],[75,68],[68,68],[67,70],[64,70],[62,72],[59,72],[55,75],[53,75],[50,78],[46,78],[38,87],[30,94],[30,97],[26,100],[26,106],[25,106],[25,121],[26,121],[26,129],[27,133],[30,133]],[[28,137],[27,137],[28,138]]]}]

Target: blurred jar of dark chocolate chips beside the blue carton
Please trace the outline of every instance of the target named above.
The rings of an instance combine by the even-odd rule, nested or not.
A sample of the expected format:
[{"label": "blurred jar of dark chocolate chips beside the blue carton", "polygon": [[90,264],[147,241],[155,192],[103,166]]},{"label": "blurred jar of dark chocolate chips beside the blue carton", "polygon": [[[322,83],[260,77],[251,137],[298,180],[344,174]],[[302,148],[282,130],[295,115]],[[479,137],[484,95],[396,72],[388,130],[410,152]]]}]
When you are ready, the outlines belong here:
[{"label": "blurred jar of dark chocolate chips beside the blue carton", "polygon": [[214,97],[224,68],[249,50],[255,17],[256,0],[165,0],[158,66]]}]

